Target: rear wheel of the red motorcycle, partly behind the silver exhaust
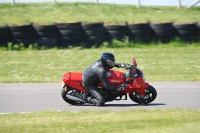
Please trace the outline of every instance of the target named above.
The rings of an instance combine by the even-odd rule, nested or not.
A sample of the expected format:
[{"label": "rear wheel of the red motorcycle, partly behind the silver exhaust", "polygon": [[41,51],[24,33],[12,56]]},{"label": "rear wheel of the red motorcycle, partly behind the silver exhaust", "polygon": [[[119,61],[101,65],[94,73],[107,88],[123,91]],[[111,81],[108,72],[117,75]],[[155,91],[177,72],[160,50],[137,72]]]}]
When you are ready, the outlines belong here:
[{"label": "rear wheel of the red motorcycle, partly behind the silver exhaust", "polygon": [[77,101],[74,101],[74,100],[66,97],[66,95],[73,96],[73,95],[77,95],[77,93],[78,92],[76,90],[74,90],[73,88],[65,89],[65,87],[64,87],[64,88],[62,88],[61,96],[65,102],[67,102],[71,105],[83,105],[84,104],[83,102],[77,102]]}]

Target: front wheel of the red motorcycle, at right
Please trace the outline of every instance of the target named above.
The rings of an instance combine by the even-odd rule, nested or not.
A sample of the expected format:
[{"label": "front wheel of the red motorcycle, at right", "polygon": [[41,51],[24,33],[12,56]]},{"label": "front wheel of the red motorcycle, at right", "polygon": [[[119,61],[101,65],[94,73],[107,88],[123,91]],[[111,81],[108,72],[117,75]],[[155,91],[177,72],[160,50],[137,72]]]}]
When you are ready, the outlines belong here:
[{"label": "front wheel of the red motorcycle, at right", "polygon": [[129,97],[132,101],[138,104],[148,104],[156,99],[157,91],[153,86],[149,85],[145,90],[144,96],[141,96],[139,92],[134,92],[129,94]]}]

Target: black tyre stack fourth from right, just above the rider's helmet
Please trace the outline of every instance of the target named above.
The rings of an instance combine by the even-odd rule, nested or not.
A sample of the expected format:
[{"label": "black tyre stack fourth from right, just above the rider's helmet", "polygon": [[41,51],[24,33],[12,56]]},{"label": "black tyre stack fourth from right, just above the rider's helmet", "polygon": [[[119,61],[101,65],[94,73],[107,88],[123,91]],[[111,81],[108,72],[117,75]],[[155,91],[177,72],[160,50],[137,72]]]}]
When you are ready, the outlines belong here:
[{"label": "black tyre stack fourth from right, just above the rider's helmet", "polygon": [[105,39],[110,42],[112,40],[122,41],[128,38],[129,30],[127,25],[105,25]]}]

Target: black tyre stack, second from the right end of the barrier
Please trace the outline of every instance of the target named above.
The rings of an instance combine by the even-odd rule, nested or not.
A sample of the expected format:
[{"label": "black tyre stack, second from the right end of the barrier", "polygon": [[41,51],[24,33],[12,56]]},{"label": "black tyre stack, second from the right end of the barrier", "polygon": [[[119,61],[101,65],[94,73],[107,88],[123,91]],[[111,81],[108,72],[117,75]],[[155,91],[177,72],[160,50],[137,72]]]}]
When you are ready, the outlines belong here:
[{"label": "black tyre stack, second from the right end of the barrier", "polygon": [[174,27],[171,22],[169,23],[155,23],[150,24],[154,31],[154,39],[162,43],[168,43],[174,38]]}]

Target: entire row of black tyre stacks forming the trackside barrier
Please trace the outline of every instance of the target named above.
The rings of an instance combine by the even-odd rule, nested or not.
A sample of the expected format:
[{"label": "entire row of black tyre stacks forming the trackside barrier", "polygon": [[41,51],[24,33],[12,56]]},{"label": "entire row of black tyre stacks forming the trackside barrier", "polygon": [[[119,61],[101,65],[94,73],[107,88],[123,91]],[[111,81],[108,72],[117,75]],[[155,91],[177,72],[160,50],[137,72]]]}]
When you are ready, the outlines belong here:
[{"label": "entire row of black tyre stacks forming the trackside barrier", "polygon": [[173,23],[125,23],[124,25],[105,25],[96,23],[55,23],[51,25],[27,24],[0,27],[0,46],[8,42],[23,43],[24,46],[37,43],[46,47],[86,47],[99,46],[113,39],[150,43],[159,40],[163,43],[179,37],[183,41],[200,41],[200,24]]}]

